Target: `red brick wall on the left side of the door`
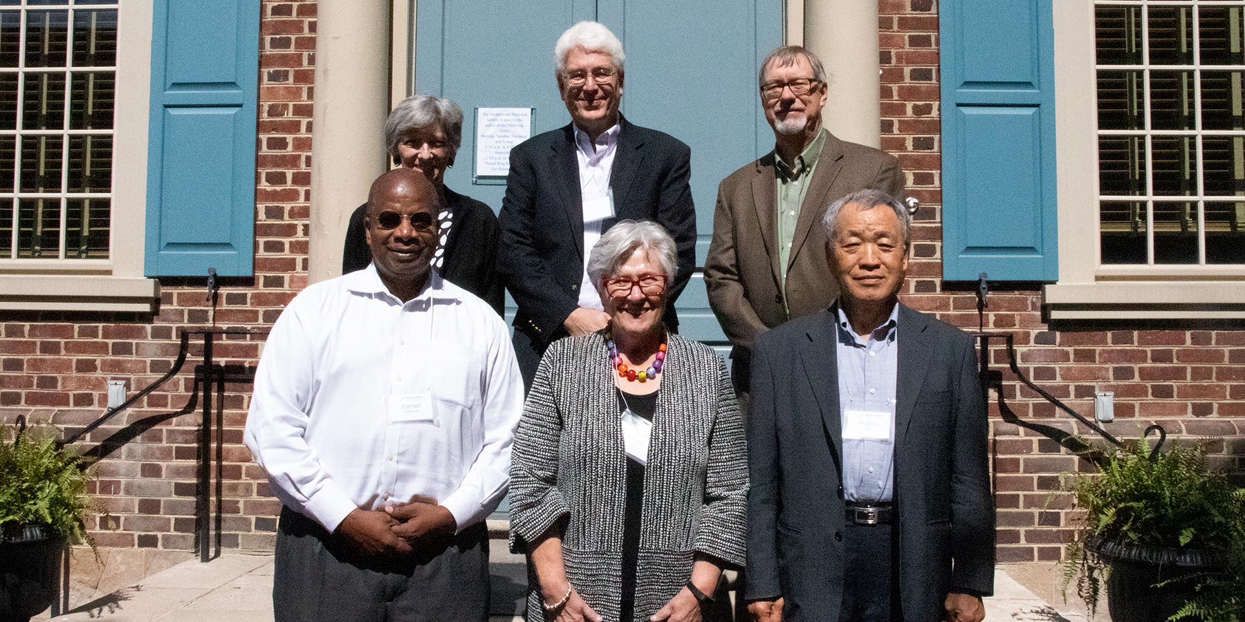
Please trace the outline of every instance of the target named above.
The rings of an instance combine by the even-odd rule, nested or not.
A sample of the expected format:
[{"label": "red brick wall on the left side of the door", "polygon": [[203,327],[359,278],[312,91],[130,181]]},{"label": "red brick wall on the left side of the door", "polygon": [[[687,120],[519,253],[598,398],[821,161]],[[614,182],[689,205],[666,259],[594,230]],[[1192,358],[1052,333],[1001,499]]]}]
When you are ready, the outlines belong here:
[{"label": "red brick wall on the left side of the door", "polygon": [[[255,276],[220,279],[215,323],[264,328],[306,286],[315,72],[315,1],[268,1],[260,25]],[[142,313],[0,312],[0,417],[17,414],[73,433],[107,407],[107,381],[131,394],[171,368],[181,327],[210,326],[207,279],[161,279],[161,311]],[[261,338],[217,343],[217,362],[254,367]],[[193,550],[199,408],[190,398],[202,341],[161,389],[92,432],[90,449],[141,432],[97,466],[93,493],[107,518],[91,525],[102,546]],[[222,453],[224,547],[268,549],[280,504],[242,444],[249,386],[225,388]],[[215,447],[215,435],[213,435]],[[215,449],[213,449],[214,452]]]}]

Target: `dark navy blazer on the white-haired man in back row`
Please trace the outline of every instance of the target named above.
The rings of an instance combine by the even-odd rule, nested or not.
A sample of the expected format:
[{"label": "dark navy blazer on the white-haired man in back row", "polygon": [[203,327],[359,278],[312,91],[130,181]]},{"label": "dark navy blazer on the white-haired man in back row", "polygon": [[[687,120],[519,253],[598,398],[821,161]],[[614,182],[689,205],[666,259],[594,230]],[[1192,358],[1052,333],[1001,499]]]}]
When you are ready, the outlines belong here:
[{"label": "dark navy blazer on the white-haired man in back row", "polygon": [[[619,118],[618,152],[610,170],[615,218],[655,220],[679,249],[679,274],[664,320],[679,330],[675,300],[696,270],[696,209],[687,180],[691,149],[674,137]],[[518,305],[515,330],[539,350],[565,337],[561,322],[579,306],[584,261],[584,211],[571,126],[538,134],[510,151],[502,199],[497,271]]]}]

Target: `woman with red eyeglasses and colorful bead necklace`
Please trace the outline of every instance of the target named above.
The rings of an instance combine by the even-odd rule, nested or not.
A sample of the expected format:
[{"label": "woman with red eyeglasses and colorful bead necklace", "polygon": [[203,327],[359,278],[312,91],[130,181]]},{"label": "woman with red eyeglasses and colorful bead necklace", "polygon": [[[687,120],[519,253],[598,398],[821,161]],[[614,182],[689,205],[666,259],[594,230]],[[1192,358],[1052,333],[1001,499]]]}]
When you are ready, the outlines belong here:
[{"label": "woman with red eyeglasses and colorful bead necklace", "polygon": [[614,225],[588,260],[609,326],[540,361],[510,464],[530,622],[728,616],[715,593],[745,561],[743,429],[718,355],[661,322],[675,270],[661,225]]}]

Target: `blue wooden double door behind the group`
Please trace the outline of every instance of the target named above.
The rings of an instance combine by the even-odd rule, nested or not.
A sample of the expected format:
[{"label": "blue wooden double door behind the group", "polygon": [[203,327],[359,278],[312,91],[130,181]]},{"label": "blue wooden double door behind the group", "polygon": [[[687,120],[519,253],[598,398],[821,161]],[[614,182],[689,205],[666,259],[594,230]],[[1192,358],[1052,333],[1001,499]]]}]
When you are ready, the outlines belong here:
[{"label": "blue wooden double door behind the group", "polygon": [[[420,0],[415,91],[448,97],[467,117],[446,184],[500,209],[505,187],[472,180],[474,108],[534,107],[533,136],[569,123],[553,46],[581,20],[600,21],[622,40],[627,119],[692,149],[696,258],[702,265],[718,182],[773,148],[757,96],[757,67],[782,42],[781,0]],[[726,342],[698,271],[679,300],[679,320],[692,338]]]}]

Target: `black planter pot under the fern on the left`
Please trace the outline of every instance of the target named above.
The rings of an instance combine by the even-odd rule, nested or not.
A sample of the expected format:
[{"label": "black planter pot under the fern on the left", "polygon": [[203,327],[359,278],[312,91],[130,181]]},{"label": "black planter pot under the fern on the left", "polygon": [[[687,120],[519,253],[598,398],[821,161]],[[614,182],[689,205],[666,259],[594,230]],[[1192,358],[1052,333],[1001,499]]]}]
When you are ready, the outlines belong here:
[{"label": "black planter pot under the fern on the left", "polygon": [[29,622],[52,606],[65,539],[40,526],[0,536],[0,622]]}]

